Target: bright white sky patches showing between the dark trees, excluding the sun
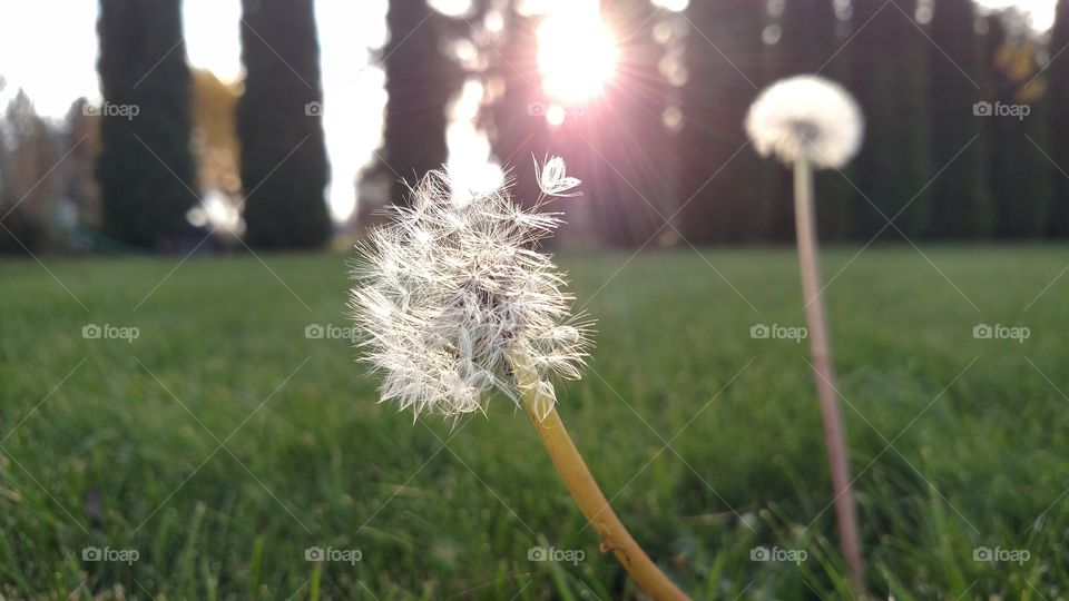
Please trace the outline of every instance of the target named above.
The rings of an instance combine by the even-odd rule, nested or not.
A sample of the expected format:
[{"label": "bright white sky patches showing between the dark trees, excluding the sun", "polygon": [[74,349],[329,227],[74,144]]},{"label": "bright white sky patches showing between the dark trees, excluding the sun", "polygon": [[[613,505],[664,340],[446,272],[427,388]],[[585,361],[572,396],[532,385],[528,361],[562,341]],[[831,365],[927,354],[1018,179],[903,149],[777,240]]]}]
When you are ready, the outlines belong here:
[{"label": "bright white sky patches showing between the dark trees, excluding the sun", "polygon": [[[413,0],[414,1],[414,0]],[[1037,28],[1049,27],[1056,0],[980,0],[984,6],[1018,4],[1031,11]],[[435,0],[443,10],[465,0]],[[678,10],[686,0],[658,0]],[[7,87],[0,105],[19,88],[35,100],[38,112],[61,117],[71,101],[86,96],[99,100],[96,75],[96,0],[4,0],[0,16],[0,76]],[[223,79],[241,76],[238,19],[241,0],[184,0],[184,26],[189,62],[205,67]],[[360,168],[373,158],[381,141],[383,73],[370,65],[369,48],[386,38],[386,0],[316,0],[316,21],[323,68],[323,119],[332,165],[328,193],[336,217],[349,215],[355,204],[353,181]],[[62,16],[62,18],[57,18]],[[467,88],[469,98],[477,89]],[[468,118],[465,107],[457,112]],[[472,145],[478,164],[457,165],[473,179],[486,179],[486,141],[464,124],[450,131],[455,144]],[[451,159],[451,166],[453,166]],[[465,171],[465,173],[467,173]]]}]

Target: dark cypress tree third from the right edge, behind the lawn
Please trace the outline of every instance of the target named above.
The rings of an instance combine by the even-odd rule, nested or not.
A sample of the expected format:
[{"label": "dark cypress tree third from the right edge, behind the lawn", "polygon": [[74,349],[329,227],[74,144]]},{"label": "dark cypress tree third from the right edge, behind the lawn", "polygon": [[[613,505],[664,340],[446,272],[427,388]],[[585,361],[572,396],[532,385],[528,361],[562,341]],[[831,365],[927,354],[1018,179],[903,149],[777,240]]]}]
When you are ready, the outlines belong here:
[{"label": "dark cypress tree third from the right edge, behind the lawn", "polygon": [[938,237],[979,238],[992,227],[983,144],[973,140],[962,151],[983,125],[972,111],[981,100],[981,47],[974,23],[972,0],[935,1],[930,35],[942,52],[929,52],[931,158],[935,169],[950,164],[932,183],[929,233]]}]

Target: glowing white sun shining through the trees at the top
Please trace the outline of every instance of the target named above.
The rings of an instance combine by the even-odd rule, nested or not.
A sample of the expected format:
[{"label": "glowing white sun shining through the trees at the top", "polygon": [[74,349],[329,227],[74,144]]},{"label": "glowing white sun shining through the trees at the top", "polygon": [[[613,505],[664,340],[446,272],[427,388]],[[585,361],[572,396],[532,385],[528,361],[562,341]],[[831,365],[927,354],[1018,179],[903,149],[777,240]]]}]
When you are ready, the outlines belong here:
[{"label": "glowing white sun shining through the trees at the top", "polygon": [[542,91],[565,106],[598,97],[616,75],[619,50],[597,2],[557,2],[538,28]]}]

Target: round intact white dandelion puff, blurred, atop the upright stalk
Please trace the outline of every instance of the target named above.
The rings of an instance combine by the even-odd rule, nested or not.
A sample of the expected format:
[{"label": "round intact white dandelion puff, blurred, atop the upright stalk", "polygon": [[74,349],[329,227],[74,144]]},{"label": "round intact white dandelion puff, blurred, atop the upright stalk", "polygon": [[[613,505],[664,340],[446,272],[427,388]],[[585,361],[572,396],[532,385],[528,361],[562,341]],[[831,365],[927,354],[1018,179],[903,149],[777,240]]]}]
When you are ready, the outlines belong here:
[{"label": "round intact white dandelion puff, blurred, atop the upright stalk", "polygon": [[746,132],[762,156],[792,165],[841,168],[857,154],[864,119],[842,86],[817,76],[795,76],[773,83],[754,100]]}]

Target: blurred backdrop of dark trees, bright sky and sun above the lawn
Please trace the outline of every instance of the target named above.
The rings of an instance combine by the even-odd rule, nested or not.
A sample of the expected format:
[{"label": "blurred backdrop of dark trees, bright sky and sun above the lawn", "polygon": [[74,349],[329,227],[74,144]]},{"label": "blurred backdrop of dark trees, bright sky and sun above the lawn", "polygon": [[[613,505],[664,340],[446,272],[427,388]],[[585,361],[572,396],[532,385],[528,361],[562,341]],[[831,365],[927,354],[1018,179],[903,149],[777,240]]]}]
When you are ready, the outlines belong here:
[{"label": "blurred backdrop of dark trees, bright sky and sun above the lawn", "polygon": [[[562,245],[793,238],[742,121],[769,82],[856,95],[828,240],[1069,236],[1069,1],[39,0],[3,9],[0,252],[339,247],[448,165],[563,156]],[[511,168],[511,171],[509,169]],[[935,177],[935,176],[939,177]]]}]

